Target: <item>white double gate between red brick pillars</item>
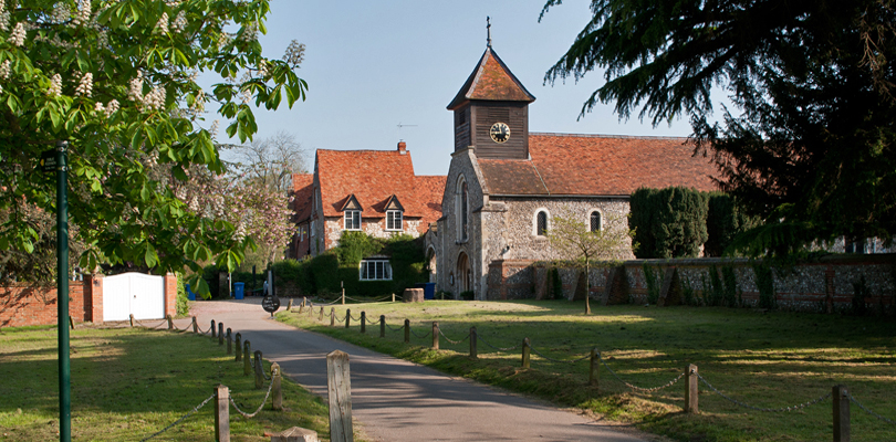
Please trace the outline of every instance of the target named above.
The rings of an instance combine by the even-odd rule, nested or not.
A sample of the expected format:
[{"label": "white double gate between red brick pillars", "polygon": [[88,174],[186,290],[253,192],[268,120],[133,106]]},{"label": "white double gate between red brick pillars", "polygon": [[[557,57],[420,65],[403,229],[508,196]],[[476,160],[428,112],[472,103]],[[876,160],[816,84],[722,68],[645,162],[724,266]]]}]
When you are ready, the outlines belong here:
[{"label": "white double gate between red brick pillars", "polygon": [[165,278],[124,273],[103,278],[103,320],[165,318]]}]

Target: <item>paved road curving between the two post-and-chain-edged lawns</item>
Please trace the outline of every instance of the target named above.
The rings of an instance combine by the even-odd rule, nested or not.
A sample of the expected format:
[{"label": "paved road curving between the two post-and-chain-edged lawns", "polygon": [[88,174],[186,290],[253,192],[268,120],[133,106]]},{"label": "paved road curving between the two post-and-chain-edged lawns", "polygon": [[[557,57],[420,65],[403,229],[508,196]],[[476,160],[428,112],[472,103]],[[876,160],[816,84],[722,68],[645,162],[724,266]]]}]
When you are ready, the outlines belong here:
[{"label": "paved road curving between the two post-and-chain-edged lawns", "polygon": [[[265,359],[280,364],[284,375],[324,398],[326,354],[347,352],[352,411],[356,424],[374,441],[659,440],[286,326],[270,318],[260,298],[197,302],[191,313],[202,329],[215,319],[225,329],[239,332],[251,341],[252,351],[261,350]],[[179,319],[178,326],[188,323]]]}]

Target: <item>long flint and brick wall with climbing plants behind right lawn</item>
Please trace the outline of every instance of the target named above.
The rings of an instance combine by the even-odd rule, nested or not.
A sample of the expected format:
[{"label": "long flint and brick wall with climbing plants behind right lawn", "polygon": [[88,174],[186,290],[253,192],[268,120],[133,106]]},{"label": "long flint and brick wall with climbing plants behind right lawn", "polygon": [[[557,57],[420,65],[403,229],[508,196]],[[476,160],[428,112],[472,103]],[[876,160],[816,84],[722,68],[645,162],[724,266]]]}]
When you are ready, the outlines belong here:
[{"label": "long flint and brick wall with climbing plants behind right lawn", "polygon": [[[758,306],[759,288],[753,272],[753,261],[746,259],[678,259],[632,260],[615,266],[596,266],[590,272],[591,297],[607,299],[610,304],[629,302],[646,304],[648,297],[644,266],[653,269],[663,284],[669,270],[677,272],[679,287],[690,287],[695,295],[704,296],[712,266],[719,272],[729,266],[737,280],[737,290],[747,306]],[[543,299],[549,293],[548,271],[552,263],[507,260],[489,265],[489,292],[487,299]],[[562,281],[563,297],[571,299],[575,293],[582,269],[558,267]],[[864,277],[871,296],[865,304],[871,309],[881,306],[896,313],[896,254],[836,255],[794,265],[792,269],[773,272],[773,285],[778,308],[835,313],[852,307],[854,283]],[[611,281],[612,280],[612,281]],[[607,281],[612,288],[607,291]]]}]

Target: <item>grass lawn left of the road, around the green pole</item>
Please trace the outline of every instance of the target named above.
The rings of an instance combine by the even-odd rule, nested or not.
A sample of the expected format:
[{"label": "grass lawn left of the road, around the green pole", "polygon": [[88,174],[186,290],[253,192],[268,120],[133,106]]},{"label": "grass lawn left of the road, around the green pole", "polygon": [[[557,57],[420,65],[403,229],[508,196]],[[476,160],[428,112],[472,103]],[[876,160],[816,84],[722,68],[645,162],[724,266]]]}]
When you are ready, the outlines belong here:
[{"label": "grass lawn left of the road, around the green pole", "polygon": [[[254,412],[268,383],[254,389],[242,362],[217,339],[143,328],[77,328],[71,332],[72,440],[139,441],[164,429],[223,383],[241,410]],[[0,330],[0,441],[59,440],[55,328]],[[265,361],[264,369],[270,372]],[[327,440],[323,401],[283,379],[288,411],[264,410],[244,419],[230,409],[232,441],[270,441],[264,432],[298,425]],[[152,441],[210,441],[215,400]]]}]

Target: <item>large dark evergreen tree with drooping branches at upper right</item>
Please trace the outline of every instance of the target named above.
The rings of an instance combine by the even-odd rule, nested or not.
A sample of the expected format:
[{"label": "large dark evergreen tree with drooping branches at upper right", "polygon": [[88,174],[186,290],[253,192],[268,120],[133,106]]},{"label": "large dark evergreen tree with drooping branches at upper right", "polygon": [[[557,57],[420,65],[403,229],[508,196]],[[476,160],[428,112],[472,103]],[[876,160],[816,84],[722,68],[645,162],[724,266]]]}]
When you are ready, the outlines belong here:
[{"label": "large dark evergreen tree with drooping branches at upper right", "polygon": [[[549,0],[542,14],[562,0]],[[546,82],[604,67],[585,102],[627,118],[688,116],[721,188],[764,223],[754,254],[896,232],[893,0],[594,0]],[[738,108],[710,124],[710,91]]]}]

